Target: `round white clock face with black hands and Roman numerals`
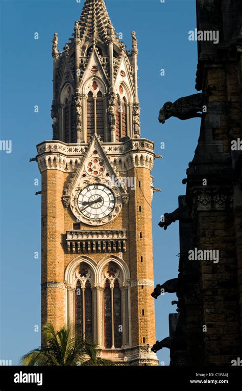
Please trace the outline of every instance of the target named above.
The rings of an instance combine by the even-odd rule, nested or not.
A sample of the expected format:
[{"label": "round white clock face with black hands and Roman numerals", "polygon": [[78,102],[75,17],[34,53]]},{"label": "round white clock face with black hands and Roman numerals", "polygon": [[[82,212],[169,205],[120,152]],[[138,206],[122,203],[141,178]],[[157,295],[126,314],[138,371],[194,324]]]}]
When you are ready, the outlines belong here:
[{"label": "round white clock face with black hands and Roman numerals", "polygon": [[107,186],[94,183],[81,190],[77,203],[82,215],[98,220],[107,217],[114,210],[115,197]]}]

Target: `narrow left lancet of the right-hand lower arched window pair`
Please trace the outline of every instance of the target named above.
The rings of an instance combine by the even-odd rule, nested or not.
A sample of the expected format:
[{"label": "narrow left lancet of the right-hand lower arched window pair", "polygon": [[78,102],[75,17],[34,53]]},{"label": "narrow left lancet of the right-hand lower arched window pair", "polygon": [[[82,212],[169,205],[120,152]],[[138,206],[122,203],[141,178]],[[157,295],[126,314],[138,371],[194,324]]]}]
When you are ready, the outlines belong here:
[{"label": "narrow left lancet of the right-hand lower arched window pair", "polygon": [[104,285],[104,334],[105,347],[112,347],[112,311],[111,311],[111,289],[110,283],[106,280]]}]

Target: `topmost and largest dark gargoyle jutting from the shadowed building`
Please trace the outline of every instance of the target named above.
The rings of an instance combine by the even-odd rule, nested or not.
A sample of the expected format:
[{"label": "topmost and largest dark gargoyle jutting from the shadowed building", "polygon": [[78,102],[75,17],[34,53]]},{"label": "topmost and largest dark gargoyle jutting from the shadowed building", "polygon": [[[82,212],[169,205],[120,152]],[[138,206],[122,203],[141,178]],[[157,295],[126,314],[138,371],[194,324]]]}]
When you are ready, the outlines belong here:
[{"label": "topmost and largest dark gargoyle jutting from the shadowed building", "polygon": [[171,117],[179,119],[190,119],[202,117],[199,111],[203,111],[205,99],[203,94],[193,94],[177,99],[174,103],[166,102],[160,109],[159,122],[165,123],[165,120]]}]

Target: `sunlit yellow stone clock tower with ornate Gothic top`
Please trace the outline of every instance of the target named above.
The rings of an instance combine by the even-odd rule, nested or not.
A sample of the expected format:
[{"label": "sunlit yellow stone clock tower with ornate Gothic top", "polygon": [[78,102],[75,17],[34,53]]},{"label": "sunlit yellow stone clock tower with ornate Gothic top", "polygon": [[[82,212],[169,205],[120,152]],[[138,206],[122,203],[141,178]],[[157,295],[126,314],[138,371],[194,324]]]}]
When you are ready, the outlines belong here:
[{"label": "sunlit yellow stone clock tower with ornate Gothic top", "polygon": [[54,34],[53,140],[42,175],[41,319],[98,345],[119,365],[157,365],[151,170],[140,138],[137,39],[119,40],[103,0],[87,0],[59,52]]}]

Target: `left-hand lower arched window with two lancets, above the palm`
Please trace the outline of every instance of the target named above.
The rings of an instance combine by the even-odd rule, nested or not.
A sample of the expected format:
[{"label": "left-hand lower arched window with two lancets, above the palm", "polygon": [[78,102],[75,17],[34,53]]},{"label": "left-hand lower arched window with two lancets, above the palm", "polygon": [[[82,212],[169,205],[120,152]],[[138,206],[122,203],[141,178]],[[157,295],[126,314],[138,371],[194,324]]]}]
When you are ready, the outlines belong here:
[{"label": "left-hand lower arched window with two lancets, above the palm", "polygon": [[92,322],[92,290],[89,281],[81,285],[80,281],[76,285],[75,295],[75,318],[77,335],[85,339],[93,340]]}]

